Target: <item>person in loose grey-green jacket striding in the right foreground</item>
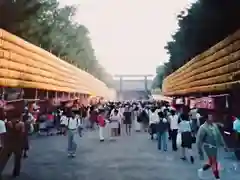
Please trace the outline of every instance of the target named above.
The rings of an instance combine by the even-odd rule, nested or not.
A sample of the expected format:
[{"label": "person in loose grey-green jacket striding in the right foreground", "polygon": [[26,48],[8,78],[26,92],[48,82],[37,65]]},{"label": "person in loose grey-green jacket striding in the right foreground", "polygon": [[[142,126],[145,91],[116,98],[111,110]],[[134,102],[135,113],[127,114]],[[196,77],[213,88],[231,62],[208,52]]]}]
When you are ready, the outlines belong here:
[{"label": "person in loose grey-green jacket striding in the right foreground", "polygon": [[223,146],[226,149],[226,144],[223,140],[220,130],[217,124],[213,122],[213,116],[211,114],[204,116],[206,120],[203,125],[200,126],[197,133],[197,149],[200,159],[203,159],[205,151],[208,162],[198,170],[198,176],[203,179],[203,172],[212,168],[215,179],[220,180],[219,169],[218,169],[218,149]]}]

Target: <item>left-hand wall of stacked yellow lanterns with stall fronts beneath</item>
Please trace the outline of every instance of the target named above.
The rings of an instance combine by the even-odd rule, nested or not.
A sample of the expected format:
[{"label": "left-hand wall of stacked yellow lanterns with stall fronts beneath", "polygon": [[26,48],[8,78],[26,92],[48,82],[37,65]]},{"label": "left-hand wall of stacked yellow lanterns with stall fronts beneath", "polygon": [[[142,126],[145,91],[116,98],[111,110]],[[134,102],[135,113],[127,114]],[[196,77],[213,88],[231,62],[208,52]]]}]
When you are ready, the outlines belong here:
[{"label": "left-hand wall of stacked yellow lanterns with stall fronts beneath", "polygon": [[103,98],[109,94],[106,84],[91,74],[2,29],[0,87],[3,106],[12,105],[15,112],[26,102],[48,111],[62,102],[78,99],[86,104],[92,94]]}]

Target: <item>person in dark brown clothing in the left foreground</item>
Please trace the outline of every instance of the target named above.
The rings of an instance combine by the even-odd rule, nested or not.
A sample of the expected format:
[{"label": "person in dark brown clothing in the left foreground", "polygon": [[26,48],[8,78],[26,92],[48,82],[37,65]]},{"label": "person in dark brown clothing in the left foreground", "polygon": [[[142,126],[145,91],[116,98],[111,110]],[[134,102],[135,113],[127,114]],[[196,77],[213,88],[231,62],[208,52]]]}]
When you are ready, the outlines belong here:
[{"label": "person in dark brown clothing in the left foreground", "polygon": [[12,112],[9,116],[7,115],[6,133],[3,138],[4,142],[2,143],[2,150],[0,153],[0,179],[2,178],[2,172],[12,154],[14,154],[12,176],[17,177],[20,175],[25,136],[25,125],[20,118],[21,113],[17,112]]}]

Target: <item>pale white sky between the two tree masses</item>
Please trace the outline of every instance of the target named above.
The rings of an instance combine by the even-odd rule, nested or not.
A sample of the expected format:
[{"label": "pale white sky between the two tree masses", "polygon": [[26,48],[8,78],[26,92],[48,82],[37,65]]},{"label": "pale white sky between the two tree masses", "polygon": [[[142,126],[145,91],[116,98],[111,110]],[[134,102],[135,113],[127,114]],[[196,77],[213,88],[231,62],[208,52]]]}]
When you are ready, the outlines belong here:
[{"label": "pale white sky between the two tree masses", "polygon": [[90,31],[99,62],[111,74],[155,74],[176,15],[195,0],[59,0],[79,4],[76,21]]}]

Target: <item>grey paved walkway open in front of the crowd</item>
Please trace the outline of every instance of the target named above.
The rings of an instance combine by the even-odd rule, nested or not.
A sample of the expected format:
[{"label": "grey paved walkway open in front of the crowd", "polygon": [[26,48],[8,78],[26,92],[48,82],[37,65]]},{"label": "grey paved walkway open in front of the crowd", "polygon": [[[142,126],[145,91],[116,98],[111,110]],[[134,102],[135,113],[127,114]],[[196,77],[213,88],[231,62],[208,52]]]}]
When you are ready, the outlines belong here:
[{"label": "grey paved walkway open in front of the crowd", "polygon": [[[77,157],[69,159],[65,136],[32,140],[30,157],[24,160],[19,180],[194,180],[202,163],[183,162],[179,152],[170,148],[168,152],[158,151],[146,133],[100,143],[96,132],[87,132],[77,142]],[[222,179],[239,180],[240,166],[234,171],[233,160],[224,160],[224,164]],[[5,174],[11,172],[9,166],[11,163]]]}]

